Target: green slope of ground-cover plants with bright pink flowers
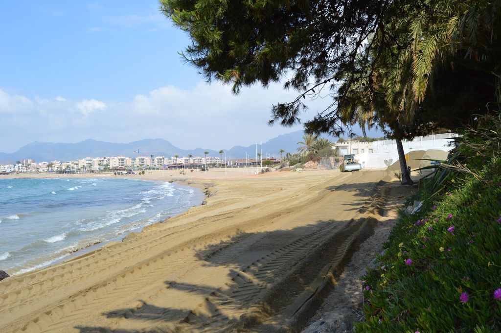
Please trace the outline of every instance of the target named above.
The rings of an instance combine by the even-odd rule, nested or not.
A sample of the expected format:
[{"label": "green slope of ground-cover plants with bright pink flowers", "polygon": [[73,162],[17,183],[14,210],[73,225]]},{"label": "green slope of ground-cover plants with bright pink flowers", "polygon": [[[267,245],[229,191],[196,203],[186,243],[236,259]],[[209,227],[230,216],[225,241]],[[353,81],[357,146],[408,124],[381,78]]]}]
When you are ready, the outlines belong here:
[{"label": "green slope of ground-cover plants with bright pink flowers", "polygon": [[501,117],[478,117],[406,202],[364,279],[357,332],[501,330]]}]

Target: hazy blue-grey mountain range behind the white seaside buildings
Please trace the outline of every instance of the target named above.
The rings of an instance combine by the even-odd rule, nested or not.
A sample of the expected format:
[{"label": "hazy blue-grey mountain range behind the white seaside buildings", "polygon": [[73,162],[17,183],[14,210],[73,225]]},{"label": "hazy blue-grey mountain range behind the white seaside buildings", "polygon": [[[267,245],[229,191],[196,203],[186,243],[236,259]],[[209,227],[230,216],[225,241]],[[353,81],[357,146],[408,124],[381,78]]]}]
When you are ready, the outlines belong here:
[{"label": "hazy blue-grey mountain range behind the white seaside buildings", "polygon": [[[297,142],[302,141],[303,134],[304,132],[299,130],[279,135],[267,142],[263,142],[263,157],[266,157],[267,153],[269,156],[280,156],[280,149],[284,149],[291,153],[296,152],[299,146]],[[231,141],[231,139],[228,138],[228,141]],[[203,157],[204,151],[208,151],[211,156],[219,156],[219,149],[225,149],[226,156],[231,156],[231,158],[243,158],[245,157],[245,153],[249,154],[251,157],[256,156],[256,146],[254,143],[245,147],[233,146],[229,149],[226,147],[216,147],[216,149],[181,149],[164,139],[144,139],[130,143],[112,143],[88,139],[78,143],[32,142],[13,153],[0,152],[0,163],[14,163],[17,160],[25,158],[31,158],[40,162],[51,160],[69,161],[97,156],[124,155],[135,157],[138,153],[134,151],[138,149],[140,154],[145,156],[153,154],[155,156],[163,155],[170,157],[176,154],[179,156],[192,154],[193,156]],[[260,152],[259,142],[258,152]]]}]

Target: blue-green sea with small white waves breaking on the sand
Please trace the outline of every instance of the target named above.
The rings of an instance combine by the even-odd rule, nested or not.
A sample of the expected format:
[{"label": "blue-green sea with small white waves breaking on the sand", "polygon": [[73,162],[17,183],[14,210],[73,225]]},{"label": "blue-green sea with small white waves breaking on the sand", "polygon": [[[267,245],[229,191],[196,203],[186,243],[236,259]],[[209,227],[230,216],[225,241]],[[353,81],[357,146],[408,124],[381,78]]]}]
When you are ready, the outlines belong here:
[{"label": "blue-green sea with small white waves breaking on the sand", "polygon": [[199,205],[197,189],[134,179],[0,179],[0,269],[28,272]]}]

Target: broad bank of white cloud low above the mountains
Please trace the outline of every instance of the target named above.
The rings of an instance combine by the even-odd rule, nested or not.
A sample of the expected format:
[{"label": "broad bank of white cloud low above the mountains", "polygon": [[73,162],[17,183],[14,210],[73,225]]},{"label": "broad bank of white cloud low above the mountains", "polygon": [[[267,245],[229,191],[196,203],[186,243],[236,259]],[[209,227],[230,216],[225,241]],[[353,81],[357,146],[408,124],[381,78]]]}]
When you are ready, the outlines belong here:
[{"label": "broad bank of white cloud low above the mountains", "polygon": [[[88,138],[109,142],[164,138],[180,148],[226,149],[265,142],[302,128],[268,126],[272,104],[296,97],[280,84],[268,89],[245,88],[238,96],[231,93],[230,86],[200,82],[191,89],[161,87],[118,103],[60,97],[39,105],[0,90],[0,112],[11,112],[3,117],[2,150],[14,151],[33,141],[79,142]],[[301,118],[311,119],[329,101],[312,101],[310,111]]]}]

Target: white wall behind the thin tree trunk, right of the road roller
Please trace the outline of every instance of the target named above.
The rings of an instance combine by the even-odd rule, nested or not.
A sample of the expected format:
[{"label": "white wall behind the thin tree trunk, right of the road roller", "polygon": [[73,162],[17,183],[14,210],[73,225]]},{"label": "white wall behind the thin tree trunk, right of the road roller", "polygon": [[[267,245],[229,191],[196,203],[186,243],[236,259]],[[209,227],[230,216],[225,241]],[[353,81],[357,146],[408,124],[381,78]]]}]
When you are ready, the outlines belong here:
[{"label": "white wall behind the thin tree trunk, right of the road roller", "polygon": [[[439,149],[449,151],[454,148],[451,142],[456,133],[435,134],[416,137],[412,141],[402,141],[404,153],[415,150]],[[395,140],[381,140],[373,142],[373,153],[364,152],[355,154],[355,159],[362,164],[362,169],[380,169],[389,167],[398,161],[398,152]]]}]

